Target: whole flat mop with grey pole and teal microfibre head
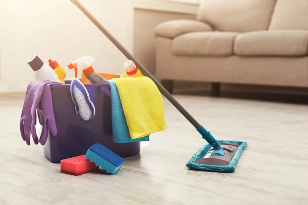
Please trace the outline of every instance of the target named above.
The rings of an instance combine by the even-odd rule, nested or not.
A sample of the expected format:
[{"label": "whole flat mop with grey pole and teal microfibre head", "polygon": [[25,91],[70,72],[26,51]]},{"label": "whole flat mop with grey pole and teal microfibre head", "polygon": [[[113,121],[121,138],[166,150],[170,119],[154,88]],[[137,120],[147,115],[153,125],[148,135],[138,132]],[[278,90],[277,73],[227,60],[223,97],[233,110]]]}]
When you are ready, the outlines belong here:
[{"label": "whole flat mop with grey pole and teal microfibre head", "polygon": [[234,172],[239,158],[247,146],[246,142],[216,140],[210,132],[200,125],[199,122],[192,117],[159,83],[159,81],[153,77],[144,66],[132,54],[130,54],[113,35],[111,35],[111,33],[109,33],[109,31],[80,3],[79,0],[70,1],[78,7],[103,34],[105,34],[115,47],[136,64],[143,75],[154,81],[160,92],[181,112],[184,117],[186,117],[191,125],[197,129],[197,131],[202,135],[202,138],[207,141],[207,143],[203,145],[186,163],[186,167],[192,170]]}]

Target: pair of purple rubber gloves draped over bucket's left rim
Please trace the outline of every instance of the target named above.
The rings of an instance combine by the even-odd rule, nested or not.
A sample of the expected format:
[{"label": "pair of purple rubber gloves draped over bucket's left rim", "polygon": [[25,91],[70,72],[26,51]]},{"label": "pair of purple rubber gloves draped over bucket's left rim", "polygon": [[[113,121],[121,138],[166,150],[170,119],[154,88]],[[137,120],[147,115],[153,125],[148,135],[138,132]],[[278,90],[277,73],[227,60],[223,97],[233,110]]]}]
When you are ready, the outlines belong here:
[{"label": "pair of purple rubber gloves draped over bucket's left rim", "polygon": [[[36,110],[40,124],[43,125],[42,134],[40,136],[40,141],[42,141],[43,144],[42,142],[41,144],[44,145],[46,143],[48,136],[48,125],[51,125],[50,131],[52,131],[52,134],[56,133],[50,85],[58,84],[60,83],[55,83],[52,81],[38,81],[28,85],[20,120],[21,135],[23,140],[26,141],[27,145],[30,145],[31,134],[35,145],[37,145],[39,141],[35,129]],[[48,95],[50,95],[50,97]],[[48,105],[48,103],[46,103],[46,100],[50,100],[51,107]],[[42,102],[44,103],[42,104]],[[41,108],[45,109],[46,116],[43,115],[43,110],[43,113],[41,113],[41,109],[39,108],[40,103],[42,104]],[[52,112],[50,112],[50,110],[52,110]]]}]

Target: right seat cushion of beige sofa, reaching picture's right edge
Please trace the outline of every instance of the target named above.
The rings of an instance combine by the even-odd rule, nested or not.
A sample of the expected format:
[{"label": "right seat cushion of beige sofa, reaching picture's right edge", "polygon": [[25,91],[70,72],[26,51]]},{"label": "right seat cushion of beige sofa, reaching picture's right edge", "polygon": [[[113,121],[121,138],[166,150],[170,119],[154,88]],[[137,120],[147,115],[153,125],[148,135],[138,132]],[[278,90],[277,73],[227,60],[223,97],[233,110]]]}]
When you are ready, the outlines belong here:
[{"label": "right seat cushion of beige sofa, reaching picture's right edge", "polygon": [[308,31],[255,31],[239,34],[234,43],[236,55],[303,56],[307,55]]}]

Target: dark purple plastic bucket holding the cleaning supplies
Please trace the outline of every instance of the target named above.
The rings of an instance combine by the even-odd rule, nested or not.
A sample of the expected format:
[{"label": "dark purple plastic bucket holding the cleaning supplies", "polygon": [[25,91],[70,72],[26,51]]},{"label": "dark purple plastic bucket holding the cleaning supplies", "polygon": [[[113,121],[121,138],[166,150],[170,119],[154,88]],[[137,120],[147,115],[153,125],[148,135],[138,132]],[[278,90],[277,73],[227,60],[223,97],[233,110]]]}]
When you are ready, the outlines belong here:
[{"label": "dark purple plastic bucket holding the cleaning supplies", "polygon": [[44,154],[48,160],[59,163],[62,159],[86,154],[89,147],[96,143],[102,144],[121,157],[140,153],[140,142],[113,142],[108,84],[85,84],[95,106],[95,116],[89,122],[84,122],[77,116],[70,94],[70,81],[66,81],[66,84],[51,86],[57,135],[53,136],[49,132],[44,145]]}]

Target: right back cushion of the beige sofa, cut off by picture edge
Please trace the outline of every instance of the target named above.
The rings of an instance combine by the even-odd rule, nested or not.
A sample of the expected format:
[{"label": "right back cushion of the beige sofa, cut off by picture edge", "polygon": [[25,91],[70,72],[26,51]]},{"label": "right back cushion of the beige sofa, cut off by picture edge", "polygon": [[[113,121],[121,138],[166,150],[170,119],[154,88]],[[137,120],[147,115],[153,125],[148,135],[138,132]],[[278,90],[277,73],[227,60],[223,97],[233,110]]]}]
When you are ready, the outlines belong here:
[{"label": "right back cushion of the beige sofa, cut off by picture edge", "polygon": [[277,0],[269,30],[308,30],[308,0]]}]

